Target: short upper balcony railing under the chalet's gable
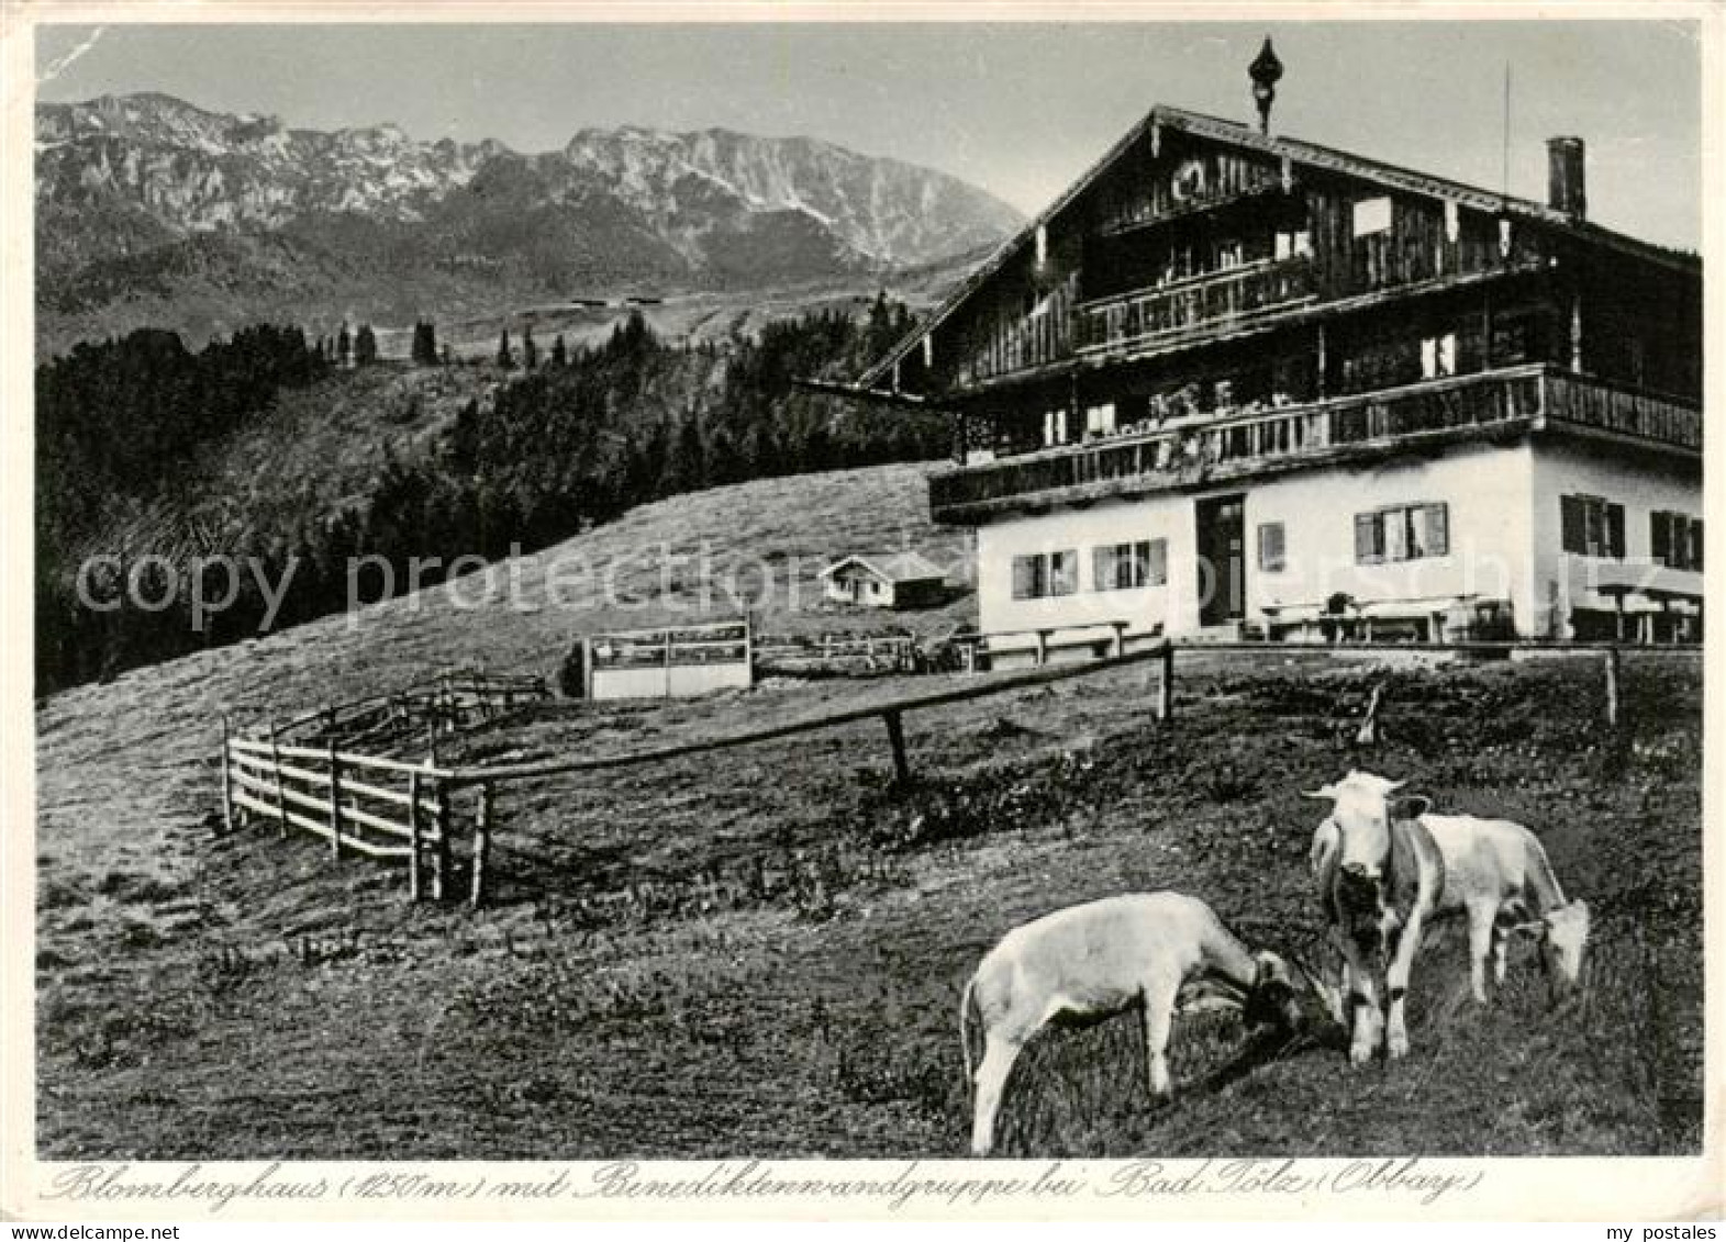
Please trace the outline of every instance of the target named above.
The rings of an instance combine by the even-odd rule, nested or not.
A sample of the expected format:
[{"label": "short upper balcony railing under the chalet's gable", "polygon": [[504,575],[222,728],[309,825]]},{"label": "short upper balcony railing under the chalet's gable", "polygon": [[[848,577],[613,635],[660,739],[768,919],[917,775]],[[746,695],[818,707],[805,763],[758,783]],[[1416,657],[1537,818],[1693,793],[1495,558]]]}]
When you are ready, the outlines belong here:
[{"label": "short upper balcony railing under the chalet's gable", "polygon": [[1074,342],[1079,354],[1141,348],[1206,324],[1310,302],[1313,292],[1307,255],[1265,259],[1225,273],[1084,302],[1074,314]]}]

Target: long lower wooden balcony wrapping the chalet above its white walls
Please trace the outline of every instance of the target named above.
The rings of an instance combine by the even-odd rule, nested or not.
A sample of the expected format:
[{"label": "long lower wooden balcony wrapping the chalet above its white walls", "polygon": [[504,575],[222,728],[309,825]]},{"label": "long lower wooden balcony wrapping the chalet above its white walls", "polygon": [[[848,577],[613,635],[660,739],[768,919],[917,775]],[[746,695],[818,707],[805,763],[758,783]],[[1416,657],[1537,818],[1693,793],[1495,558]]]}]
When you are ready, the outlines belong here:
[{"label": "long lower wooden balcony wrapping the chalet above its white walls", "polygon": [[1127,431],[958,466],[929,480],[935,521],[1212,486],[1453,442],[1569,430],[1700,461],[1695,405],[1546,366],[1431,380],[1310,405]]}]

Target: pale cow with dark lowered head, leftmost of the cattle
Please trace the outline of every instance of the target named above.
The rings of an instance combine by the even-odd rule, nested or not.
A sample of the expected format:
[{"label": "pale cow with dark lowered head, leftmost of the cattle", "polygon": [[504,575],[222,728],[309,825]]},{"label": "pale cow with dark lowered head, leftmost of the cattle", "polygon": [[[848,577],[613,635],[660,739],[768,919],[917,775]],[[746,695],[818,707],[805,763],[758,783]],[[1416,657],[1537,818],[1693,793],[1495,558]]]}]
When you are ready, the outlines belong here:
[{"label": "pale cow with dark lowered head, leftmost of the cattle", "polygon": [[[984,1032],[972,1071],[970,1011]],[[1153,1095],[1167,1095],[1169,1033],[1175,1009],[1238,1007],[1250,1026],[1294,1030],[1301,1007],[1289,968],[1253,954],[1196,897],[1125,894],[1070,906],[1017,926],[991,949],[960,1002],[965,1073],[977,1088],[972,1151],[987,1156],[1006,1078],[1044,1025],[1089,1025],[1144,1011]]]}]

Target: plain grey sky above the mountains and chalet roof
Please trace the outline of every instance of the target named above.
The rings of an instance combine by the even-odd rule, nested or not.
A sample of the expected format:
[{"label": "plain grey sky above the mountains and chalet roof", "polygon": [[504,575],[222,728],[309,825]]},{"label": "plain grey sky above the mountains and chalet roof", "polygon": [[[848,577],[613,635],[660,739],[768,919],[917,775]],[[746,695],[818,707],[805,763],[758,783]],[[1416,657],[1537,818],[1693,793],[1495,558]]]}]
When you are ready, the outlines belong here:
[{"label": "plain grey sky above the mountains and chalet roof", "polygon": [[1579,135],[1591,219],[1700,247],[1700,43],[1676,21],[50,26],[36,64],[41,100],[155,90],[523,152],[585,126],[809,135],[1029,214],[1153,104],[1253,119],[1265,36],[1274,131],[1498,188],[1509,64],[1510,193],[1545,198],[1545,140]]}]

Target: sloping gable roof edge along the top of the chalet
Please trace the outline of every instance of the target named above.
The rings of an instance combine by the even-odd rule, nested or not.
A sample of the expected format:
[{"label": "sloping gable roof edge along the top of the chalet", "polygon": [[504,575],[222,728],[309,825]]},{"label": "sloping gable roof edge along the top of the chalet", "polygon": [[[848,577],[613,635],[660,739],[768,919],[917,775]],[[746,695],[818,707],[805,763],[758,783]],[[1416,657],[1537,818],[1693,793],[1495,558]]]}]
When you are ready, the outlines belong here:
[{"label": "sloping gable roof edge along the top of the chalet", "polygon": [[998,273],[1008,259],[1029,245],[1039,228],[1060,216],[1086,190],[1089,190],[1096,179],[1103,176],[1103,172],[1113,167],[1115,162],[1134,147],[1134,143],[1158,126],[1234,147],[1244,147],[1248,150],[1265,152],[1269,155],[1286,157],[1294,164],[1322,167],[1345,176],[1360,178],[1388,190],[1450,198],[1479,210],[1502,212],[1512,219],[1534,221],[1595,245],[1603,245],[1607,248],[1659,262],[1667,267],[1676,267],[1679,271],[1702,269],[1702,260],[1695,254],[1671,250],[1652,242],[1641,242],[1626,233],[1600,228],[1598,224],[1576,221],[1565,212],[1555,210],[1531,198],[1502,195],[1493,190],[1483,190],[1479,186],[1433,176],[1429,172],[1417,172],[1395,164],[1383,164],[1379,160],[1365,159],[1364,155],[1351,155],[1350,152],[1301,141],[1300,138],[1267,136],[1236,121],[1224,121],[1222,117],[1205,116],[1203,112],[1187,112],[1186,109],[1158,104],[1144,116],[1143,121],[1139,121],[1139,124],[1122,135],[1113,147],[1103,152],[1103,157],[1087,167],[1055,202],[1032,216],[1018,233],[1008,238],[975,271],[972,271],[970,276],[960,281],[958,286],[954,286],[954,290],[942,298],[941,305],[935,307],[927,321],[913,328],[904,340],[887,352],[884,359],[863,373],[858,380],[858,386],[873,388],[877,381],[885,376],[906,354],[910,354],[923,336],[939,328],[941,323],[948,319],[953,310],[963,305],[965,300],[970,298],[970,295],[977,292],[977,288],[980,288],[994,273]]}]

